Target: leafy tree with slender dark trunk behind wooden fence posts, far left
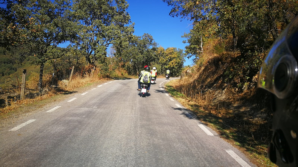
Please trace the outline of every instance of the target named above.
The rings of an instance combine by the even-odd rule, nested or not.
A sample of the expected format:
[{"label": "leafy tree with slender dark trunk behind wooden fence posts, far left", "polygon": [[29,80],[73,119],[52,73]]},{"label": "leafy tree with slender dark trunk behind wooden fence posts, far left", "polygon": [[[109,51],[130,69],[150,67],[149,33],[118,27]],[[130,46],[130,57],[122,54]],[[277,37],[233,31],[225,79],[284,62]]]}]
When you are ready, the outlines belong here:
[{"label": "leafy tree with slender dark trunk behind wooden fence posts, far left", "polygon": [[61,56],[57,45],[69,40],[72,32],[70,1],[7,1],[7,8],[1,10],[5,11],[1,17],[13,18],[6,19],[4,41],[8,41],[9,47],[25,48],[28,55],[34,56],[32,64],[40,65],[38,88],[41,90],[44,64]]}]

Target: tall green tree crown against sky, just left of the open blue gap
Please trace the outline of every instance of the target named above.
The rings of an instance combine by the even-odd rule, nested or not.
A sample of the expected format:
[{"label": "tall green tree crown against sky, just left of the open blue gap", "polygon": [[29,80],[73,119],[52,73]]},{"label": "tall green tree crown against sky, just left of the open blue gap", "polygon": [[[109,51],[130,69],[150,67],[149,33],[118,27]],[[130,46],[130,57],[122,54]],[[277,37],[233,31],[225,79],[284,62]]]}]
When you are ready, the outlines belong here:
[{"label": "tall green tree crown against sky, just left of the open blue gap", "polygon": [[74,29],[77,38],[72,40],[72,47],[85,56],[88,64],[103,61],[106,49],[116,44],[121,38],[134,32],[134,23],[125,10],[125,0],[75,0],[73,16],[76,20]]}]

